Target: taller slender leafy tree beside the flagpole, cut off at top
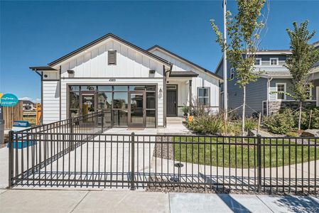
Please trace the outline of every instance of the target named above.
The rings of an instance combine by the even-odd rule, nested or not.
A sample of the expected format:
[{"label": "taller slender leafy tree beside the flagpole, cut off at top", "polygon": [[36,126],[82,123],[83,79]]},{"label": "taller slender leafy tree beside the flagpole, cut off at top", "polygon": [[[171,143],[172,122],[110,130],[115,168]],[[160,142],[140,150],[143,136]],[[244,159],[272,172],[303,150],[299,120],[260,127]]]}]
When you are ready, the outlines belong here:
[{"label": "taller slender leafy tree beside the flagpole, cut off at top", "polygon": [[227,42],[224,43],[222,33],[211,20],[212,29],[217,35],[216,42],[222,50],[227,51],[227,59],[235,70],[236,84],[243,89],[242,133],[245,129],[246,87],[255,82],[258,72],[254,71],[256,51],[261,42],[261,30],[268,17],[261,13],[266,0],[237,0],[237,14],[227,11]]}]

